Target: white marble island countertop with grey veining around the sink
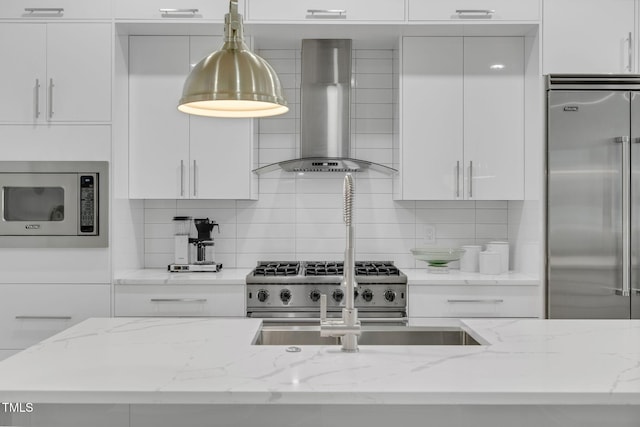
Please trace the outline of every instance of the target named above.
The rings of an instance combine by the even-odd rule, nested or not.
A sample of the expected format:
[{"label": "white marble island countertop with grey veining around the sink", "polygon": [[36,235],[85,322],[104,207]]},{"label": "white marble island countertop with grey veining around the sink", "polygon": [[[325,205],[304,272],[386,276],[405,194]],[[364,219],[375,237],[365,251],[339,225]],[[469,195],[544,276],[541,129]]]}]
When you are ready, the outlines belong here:
[{"label": "white marble island countertop with grey veining around the sink", "polygon": [[255,319],[89,319],[0,362],[0,400],[640,405],[638,320],[441,322],[486,345],[289,353],[251,345]]}]

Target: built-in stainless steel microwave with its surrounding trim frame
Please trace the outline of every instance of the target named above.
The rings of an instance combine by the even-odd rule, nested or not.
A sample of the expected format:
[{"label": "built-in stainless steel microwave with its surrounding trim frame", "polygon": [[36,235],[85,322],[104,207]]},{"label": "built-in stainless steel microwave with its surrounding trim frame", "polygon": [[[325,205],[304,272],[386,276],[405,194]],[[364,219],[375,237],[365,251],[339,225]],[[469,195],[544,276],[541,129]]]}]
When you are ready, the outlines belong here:
[{"label": "built-in stainless steel microwave with its surrounding trim frame", "polygon": [[0,247],[107,247],[107,162],[0,162]]}]

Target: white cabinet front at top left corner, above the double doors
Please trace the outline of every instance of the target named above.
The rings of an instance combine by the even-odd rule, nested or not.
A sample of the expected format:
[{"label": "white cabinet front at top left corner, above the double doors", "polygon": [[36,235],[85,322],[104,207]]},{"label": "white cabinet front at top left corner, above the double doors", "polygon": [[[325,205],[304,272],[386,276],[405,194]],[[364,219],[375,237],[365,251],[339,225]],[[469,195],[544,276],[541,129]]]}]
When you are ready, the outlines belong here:
[{"label": "white cabinet front at top left corner, above the double doors", "polygon": [[5,0],[0,18],[110,19],[111,2],[86,0]]}]

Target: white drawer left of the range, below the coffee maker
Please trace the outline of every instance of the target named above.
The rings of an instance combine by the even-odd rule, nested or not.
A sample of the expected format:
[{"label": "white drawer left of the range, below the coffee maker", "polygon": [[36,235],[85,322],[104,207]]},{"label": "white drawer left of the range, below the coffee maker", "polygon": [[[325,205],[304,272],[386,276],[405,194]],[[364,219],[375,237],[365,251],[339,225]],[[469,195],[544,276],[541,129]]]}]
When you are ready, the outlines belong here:
[{"label": "white drawer left of the range, below the coffee maker", "polygon": [[242,285],[119,285],[116,316],[244,317]]}]

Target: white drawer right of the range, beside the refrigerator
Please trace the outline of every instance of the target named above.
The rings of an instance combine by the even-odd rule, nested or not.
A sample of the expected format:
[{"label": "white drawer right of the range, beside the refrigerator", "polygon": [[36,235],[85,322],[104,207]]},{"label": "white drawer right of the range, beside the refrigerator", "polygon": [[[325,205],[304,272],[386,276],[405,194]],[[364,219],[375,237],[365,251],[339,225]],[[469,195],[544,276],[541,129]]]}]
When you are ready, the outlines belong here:
[{"label": "white drawer right of the range, beside the refrigerator", "polygon": [[411,317],[539,317],[537,286],[410,286]]}]

